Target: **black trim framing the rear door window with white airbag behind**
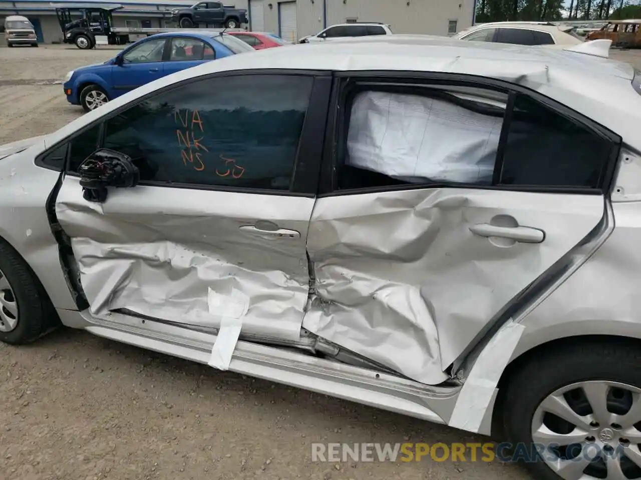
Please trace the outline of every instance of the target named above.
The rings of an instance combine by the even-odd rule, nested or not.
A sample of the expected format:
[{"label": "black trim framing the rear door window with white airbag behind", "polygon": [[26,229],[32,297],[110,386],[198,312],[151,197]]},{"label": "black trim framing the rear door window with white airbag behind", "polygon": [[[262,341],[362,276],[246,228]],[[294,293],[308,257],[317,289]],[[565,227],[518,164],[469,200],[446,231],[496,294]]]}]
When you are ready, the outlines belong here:
[{"label": "black trim framing the rear door window with white airbag behind", "polygon": [[[506,191],[529,191],[534,193],[572,193],[575,195],[608,195],[612,190],[613,179],[615,170],[617,168],[620,148],[622,147],[622,138],[615,132],[607,129],[601,124],[598,124],[591,118],[582,115],[578,111],[570,109],[569,107],[560,104],[556,100],[545,97],[541,93],[526,88],[524,86],[510,83],[503,80],[491,79],[488,77],[474,76],[468,74],[452,74],[444,72],[415,72],[411,70],[394,71],[394,70],[370,70],[370,71],[353,71],[353,72],[336,72],[335,73],[335,86],[331,97],[331,105],[329,109],[328,122],[326,127],[326,148],[324,149],[320,184],[319,184],[319,198],[324,196],[339,196],[339,195],[362,195],[365,193],[379,193],[385,191],[403,191],[403,190],[417,190],[417,189],[431,189],[431,188],[457,188],[457,189],[485,189],[485,190],[506,190]],[[540,102],[547,108],[553,110],[559,115],[569,118],[573,122],[583,125],[592,130],[602,138],[612,143],[612,150],[608,161],[606,162],[601,178],[599,179],[599,187],[597,188],[568,188],[568,187],[545,187],[545,186],[513,186],[513,185],[475,185],[463,184],[458,182],[433,182],[433,183],[420,183],[420,184],[401,184],[391,185],[384,187],[372,188],[354,188],[354,189],[338,189],[336,184],[337,173],[337,154],[340,148],[340,141],[345,140],[345,136],[341,136],[340,124],[344,118],[342,100],[345,92],[345,87],[349,86],[354,81],[363,83],[364,81],[374,81],[378,84],[421,84],[428,86],[429,84],[445,84],[451,86],[469,86],[473,88],[481,88],[483,90],[498,90],[506,92],[510,96],[509,102],[514,102],[516,94],[526,95],[529,98]],[[346,115],[347,113],[345,113]],[[509,129],[509,120],[506,118],[503,122],[503,129],[501,130],[501,140],[504,140],[504,135],[507,134]],[[503,141],[504,143],[504,141]],[[331,145],[331,148],[329,147]],[[494,169],[503,168],[503,152],[501,143],[499,143],[499,152],[497,152],[497,161]],[[499,159],[499,154],[501,158]],[[493,179],[494,180],[494,179]],[[494,182],[493,182],[494,183]]]}]

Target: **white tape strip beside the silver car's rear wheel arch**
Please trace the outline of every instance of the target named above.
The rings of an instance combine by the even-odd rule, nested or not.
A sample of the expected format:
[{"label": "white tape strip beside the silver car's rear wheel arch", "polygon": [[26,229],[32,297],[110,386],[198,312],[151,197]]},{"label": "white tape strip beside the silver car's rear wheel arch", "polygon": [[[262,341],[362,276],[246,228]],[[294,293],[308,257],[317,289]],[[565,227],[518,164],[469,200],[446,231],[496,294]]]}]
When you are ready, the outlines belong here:
[{"label": "white tape strip beside the silver car's rear wheel arch", "polygon": [[492,394],[525,327],[511,320],[488,342],[463,383],[448,425],[478,433]]}]

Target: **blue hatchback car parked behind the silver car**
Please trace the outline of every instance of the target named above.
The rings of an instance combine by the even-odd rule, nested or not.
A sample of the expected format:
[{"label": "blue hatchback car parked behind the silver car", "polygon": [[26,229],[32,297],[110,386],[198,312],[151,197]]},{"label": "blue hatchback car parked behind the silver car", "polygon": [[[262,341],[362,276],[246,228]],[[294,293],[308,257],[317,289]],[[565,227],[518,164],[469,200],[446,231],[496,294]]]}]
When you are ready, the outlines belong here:
[{"label": "blue hatchback car parked behind the silver car", "polygon": [[111,60],[72,70],[63,88],[69,103],[90,111],[160,77],[242,52],[254,49],[219,31],[158,33],[135,42]]}]

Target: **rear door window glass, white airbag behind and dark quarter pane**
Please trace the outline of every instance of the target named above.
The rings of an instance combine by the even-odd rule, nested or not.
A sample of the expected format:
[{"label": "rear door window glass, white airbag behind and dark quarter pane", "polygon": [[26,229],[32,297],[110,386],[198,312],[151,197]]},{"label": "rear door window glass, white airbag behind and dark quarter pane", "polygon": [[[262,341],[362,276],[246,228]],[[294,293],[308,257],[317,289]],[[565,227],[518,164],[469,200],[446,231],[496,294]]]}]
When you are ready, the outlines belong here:
[{"label": "rear door window glass, white airbag behind and dark quarter pane", "polygon": [[506,93],[469,87],[415,90],[348,95],[349,118],[338,142],[339,189],[403,184],[601,188],[616,147],[604,134],[520,93],[506,125]]}]

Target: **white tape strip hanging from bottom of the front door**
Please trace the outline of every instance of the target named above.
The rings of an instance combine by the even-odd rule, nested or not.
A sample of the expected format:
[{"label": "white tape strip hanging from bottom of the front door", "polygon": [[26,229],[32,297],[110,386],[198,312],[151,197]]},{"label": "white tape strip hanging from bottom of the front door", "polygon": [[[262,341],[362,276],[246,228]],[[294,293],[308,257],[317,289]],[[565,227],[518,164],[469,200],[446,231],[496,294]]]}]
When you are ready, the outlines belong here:
[{"label": "white tape strip hanging from bottom of the front door", "polygon": [[229,295],[221,295],[209,289],[207,303],[210,314],[222,317],[221,328],[213,343],[212,355],[207,364],[220,370],[228,370],[231,356],[240,337],[242,319],[249,308],[249,298],[236,289],[231,289]]}]

